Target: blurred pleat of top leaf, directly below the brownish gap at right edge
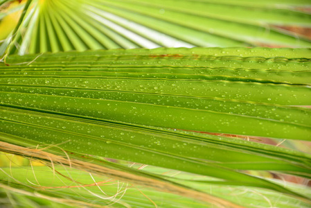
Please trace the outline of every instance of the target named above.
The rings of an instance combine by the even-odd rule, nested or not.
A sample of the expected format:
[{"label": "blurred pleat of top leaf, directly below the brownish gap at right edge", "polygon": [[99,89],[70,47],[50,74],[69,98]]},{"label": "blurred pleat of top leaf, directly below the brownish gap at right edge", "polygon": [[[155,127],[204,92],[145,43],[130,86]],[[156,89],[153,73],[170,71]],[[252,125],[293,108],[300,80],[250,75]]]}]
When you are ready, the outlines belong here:
[{"label": "blurred pleat of top leaf, directly below the brownish gap at right edge", "polygon": [[[161,12],[159,12],[159,9],[161,8],[152,8],[141,4],[131,3],[130,1],[105,1],[105,4],[110,6],[110,8],[106,8],[107,6],[105,6],[105,10],[110,10],[111,12],[114,12],[114,10],[119,12],[128,10],[141,15],[161,19],[163,21],[169,21],[194,30],[220,35],[233,40],[244,41],[249,44],[263,42],[266,44],[278,44],[285,46],[311,45],[308,41],[297,40],[295,37],[285,36],[281,33],[277,33],[276,31],[267,31],[266,28],[258,26],[246,26],[234,21],[202,18],[197,15],[188,15],[185,13],[175,12],[173,10],[166,10],[163,14],[161,14]],[[128,16],[128,18],[131,18],[131,16]]]}]

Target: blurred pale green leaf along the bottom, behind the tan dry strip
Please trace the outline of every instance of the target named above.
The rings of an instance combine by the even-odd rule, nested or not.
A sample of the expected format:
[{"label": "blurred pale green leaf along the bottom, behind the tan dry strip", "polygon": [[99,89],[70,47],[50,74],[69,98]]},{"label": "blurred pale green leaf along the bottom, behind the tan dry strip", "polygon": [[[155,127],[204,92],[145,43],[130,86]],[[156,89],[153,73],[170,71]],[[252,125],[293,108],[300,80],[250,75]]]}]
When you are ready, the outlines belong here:
[{"label": "blurred pale green leaf along the bottom, behind the tan dry strip", "polygon": [[[27,169],[25,169],[27,168]],[[159,168],[152,168],[147,167],[144,169],[148,169],[148,171],[159,171]],[[10,173],[9,168],[3,168],[6,173]],[[81,172],[80,170],[74,170],[74,169],[66,169],[62,166],[57,166],[57,171],[61,173],[62,175],[58,175],[58,177],[55,177],[53,175],[53,170],[51,168],[48,168],[47,166],[38,167],[34,166],[33,169],[28,168],[27,166],[22,167],[13,167],[12,172],[13,173],[21,173],[21,174],[14,174],[13,177],[16,180],[24,181],[25,178],[28,179],[29,182],[37,183],[41,185],[41,187],[49,187],[48,192],[44,192],[36,189],[37,193],[34,195],[33,190],[34,187],[27,187],[27,185],[21,185],[18,183],[12,182],[10,185],[11,187],[3,187],[6,189],[4,192],[4,196],[6,194],[10,194],[10,197],[14,198],[15,201],[18,203],[18,205],[27,206],[29,203],[33,204],[34,201],[37,203],[40,203],[41,205],[45,203],[46,206],[50,204],[50,206],[57,206],[57,202],[59,203],[58,206],[61,207],[67,207],[68,205],[75,205],[75,206],[81,206],[86,205],[88,207],[96,207],[96,204],[94,204],[94,201],[96,200],[98,202],[97,205],[111,205],[112,207],[126,207],[126,205],[132,205],[135,207],[154,207],[152,202],[154,202],[159,207],[209,207],[208,204],[203,202],[198,202],[196,200],[191,200],[189,198],[179,198],[177,195],[173,195],[171,193],[163,193],[163,192],[157,192],[152,189],[146,189],[143,187],[130,187],[129,185],[126,187],[126,184],[123,184],[123,182],[118,182],[111,180],[109,177],[98,177],[97,175],[92,175],[94,180],[98,182],[98,186],[101,188],[98,189],[97,186],[85,186],[84,184],[94,184],[94,180],[90,177],[89,173]],[[161,170],[162,171],[162,170]],[[167,171],[167,170],[165,170]],[[1,172],[0,174],[2,174]],[[33,174],[35,173],[35,175]],[[4,174],[3,174],[4,175]],[[69,180],[69,178],[66,176],[70,175],[72,180]],[[179,177],[187,177],[186,174],[180,174]],[[6,175],[5,177],[8,177]],[[44,180],[44,178],[49,177],[53,178],[53,182]],[[195,177],[195,176],[192,176]],[[199,178],[199,177],[197,177]],[[80,182],[80,184],[75,184],[75,182]],[[103,183],[105,182],[105,183]],[[31,183],[28,183],[31,185]],[[103,184],[103,186],[101,186]],[[121,187],[123,184],[123,187]],[[119,185],[119,187],[117,187]],[[297,200],[294,198],[290,198],[288,196],[281,196],[274,192],[265,191],[263,189],[256,189],[256,191],[252,190],[245,190],[243,188],[240,189],[230,189],[229,187],[225,186],[217,186],[217,185],[211,185],[211,184],[200,184],[199,182],[194,183],[191,182],[192,186],[195,186],[197,189],[202,190],[213,190],[213,194],[216,196],[220,196],[222,198],[227,198],[232,200],[233,202],[238,202],[241,198],[245,202],[246,207],[258,207],[258,205],[261,205],[263,207],[294,207],[297,205]],[[60,189],[60,187],[67,186],[66,188]],[[299,188],[295,187],[293,184],[288,184],[288,187],[291,188]],[[121,190],[118,191],[118,189]],[[141,189],[142,193],[137,191],[136,188]],[[125,191],[125,194],[123,195]],[[24,191],[27,190],[27,191]],[[57,191],[54,191],[57,190]],[[104,191],[104,193],[102,192]],[[112,198],[112,196],[116,195],[116,200],[112,201],[109,198]],[[145,194],[148,196],[146,198],[143,196]],[[123,196],[122,196],[123,195]],[[33,196],[33,198],[31,198]],[[66,196],[64,200],[60,200],[60,198]],[[81,200],[80,196],[87,196]],[[101,196],[102,199],[98,200],[98,196]],[[263,196],[265,196],[266,200],[263,200]],[[24,200],[26,198],[26,200]],[[35,198],[35,199],[34,199]],[[69,200],[71,198],[71,200]],[[107,198],[107,199],[106,199]],[[121,198],[121,200],[118,200]],[[166,198],[168,200],[163,200],[163,198]],[[53,200],[51,200],[53,199]],[[150,201],[152,200],[152,201]],[[38,202],[39,201],[39,202]],[[62,202],[62,204],[60,204]],[[83,204],[84,203],[84,204]],[[90,204],[92,203],[92,204]],[[8,202],[9,204],[9,202]],[[40,205],[39,204],[39,205]],[[52,205],[51,205],[52,204]],[[55,205],[56,204],[56,205]],[[71,207],[70,206],[70,207]],[[299,207],[308,207],[308,203],[305,202],[299,202]]]}]

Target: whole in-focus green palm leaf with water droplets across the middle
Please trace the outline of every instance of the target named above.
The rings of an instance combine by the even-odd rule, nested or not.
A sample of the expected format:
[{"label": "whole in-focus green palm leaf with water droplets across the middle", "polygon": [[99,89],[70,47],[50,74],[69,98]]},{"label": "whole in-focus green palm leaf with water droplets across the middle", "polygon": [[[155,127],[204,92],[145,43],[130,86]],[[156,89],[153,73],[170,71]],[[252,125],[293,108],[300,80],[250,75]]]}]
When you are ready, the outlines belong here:
[{"label": "whole in-focus green palm leaf with water droplets across the middle", "polygon": [[[262,56],[251,56],[252,50]],[[94,155],[139,162],[220,179],[202,181],[207,184],[265,188],[306,200],[301,193],[237,170],[310,177],[310,155],[176,129],[310,140],[310,110],[287,106],[309,105],[308,80],[296,83],[290,76],[303,73],[308,78],[308,50],[134,49],[8,56],[1,66],[1,140],[21,146],[53,144],[53,153],[64,150],[78,159]],[[240,66],[245,68],[211,69],[210,62],[244,62]],[[287,64],[296,64],[296,71],[288,73]],[[228,70],[245,69],[263,71],[266,78],[256,73],[224,76]],[[214,74],[202,76],[208,71]],[[278,81],[267,79],[274,71],[288,74]],[[257,87],[244,92],[246,85]]]}]

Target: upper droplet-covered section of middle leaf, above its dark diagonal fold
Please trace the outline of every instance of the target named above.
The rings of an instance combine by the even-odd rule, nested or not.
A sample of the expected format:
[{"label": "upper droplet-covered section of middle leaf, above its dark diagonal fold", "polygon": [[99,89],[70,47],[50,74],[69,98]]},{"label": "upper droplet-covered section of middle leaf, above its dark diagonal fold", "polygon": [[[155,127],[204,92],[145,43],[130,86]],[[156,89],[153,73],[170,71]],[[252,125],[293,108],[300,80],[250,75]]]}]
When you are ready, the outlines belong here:
[{"label": "upper droplet-covered section of middle leaf, above its dark diagonal fold", "polygon": [[[205,55],[204,49],[59,53],[53,58],[25,56],[20,61],[36,58],[26,67],[14,64],[12,57],[12,67],[0,71],[0,96],[8,105],[107,121],[310,140],[310,110],[285,106],[310,104],[310,61],[303,53],[308,49],[297,49],[296,55],[292,49],[256,49],[264,57],[249,56],[251,50],[206,49]],[[297,58],[299,53],[306,58]],[[241,62],[245,69],[227,66]],[[216,63],[222,67],[209,68]],[[289,65],[295,68],[289,71]]]}]

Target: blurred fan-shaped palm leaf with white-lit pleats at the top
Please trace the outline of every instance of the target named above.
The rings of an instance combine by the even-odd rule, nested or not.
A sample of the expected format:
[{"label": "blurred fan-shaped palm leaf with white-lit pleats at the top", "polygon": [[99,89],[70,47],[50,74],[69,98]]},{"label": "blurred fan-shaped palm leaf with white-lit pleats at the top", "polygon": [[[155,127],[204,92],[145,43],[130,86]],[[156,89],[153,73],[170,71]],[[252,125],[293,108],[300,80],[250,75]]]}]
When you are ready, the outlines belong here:
[{"label": "blurred fan-shaped palm leaf with white-lit pleats at the top", "polygon": [[[310,40],[274,27],[308,27],[309,14],[279,9],[279,1],[275,5],[270,2],[269,7],[265,2],[252,6],[243,3],[241,6],[237,1],[33,0],[27,2],[24,15],[11,33],[14,35],[8,37],[1,50],[10,40],[8,51],[20,55],[159,46],[311,46]],[[281,5],[303,3],[289,1]]]}]

